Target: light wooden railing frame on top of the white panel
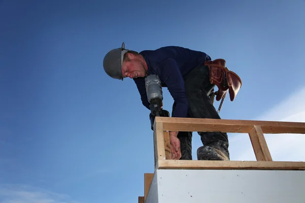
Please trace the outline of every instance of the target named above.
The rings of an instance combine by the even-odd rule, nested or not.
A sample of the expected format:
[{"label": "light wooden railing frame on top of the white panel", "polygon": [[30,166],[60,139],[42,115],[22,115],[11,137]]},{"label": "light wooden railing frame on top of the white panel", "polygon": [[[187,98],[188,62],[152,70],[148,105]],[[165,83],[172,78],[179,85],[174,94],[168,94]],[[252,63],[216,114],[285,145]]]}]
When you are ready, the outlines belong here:
[{"label": "light wooden railing frame on top of the white panel", "polygon": [[[248,133],[257,161],[171,160],[168,131]],[[263,133],[305,134],[305,123],[156,117],[155,166],[157,169],[305,170],[305,162],[272,161]]]}]

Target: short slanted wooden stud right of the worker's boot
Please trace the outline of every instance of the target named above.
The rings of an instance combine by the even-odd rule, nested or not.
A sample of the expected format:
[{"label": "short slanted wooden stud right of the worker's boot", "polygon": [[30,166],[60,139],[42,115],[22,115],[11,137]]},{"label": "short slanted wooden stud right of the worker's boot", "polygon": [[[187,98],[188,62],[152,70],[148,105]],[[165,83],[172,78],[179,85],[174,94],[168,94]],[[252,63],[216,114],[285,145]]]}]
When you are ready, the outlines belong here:
[{"label": "short slanted wooden stud right of the worker's boot", "polygon": [[256,160],[272,161],[262,128],[255,125],[249,132],[249,137],[252,143]]}]

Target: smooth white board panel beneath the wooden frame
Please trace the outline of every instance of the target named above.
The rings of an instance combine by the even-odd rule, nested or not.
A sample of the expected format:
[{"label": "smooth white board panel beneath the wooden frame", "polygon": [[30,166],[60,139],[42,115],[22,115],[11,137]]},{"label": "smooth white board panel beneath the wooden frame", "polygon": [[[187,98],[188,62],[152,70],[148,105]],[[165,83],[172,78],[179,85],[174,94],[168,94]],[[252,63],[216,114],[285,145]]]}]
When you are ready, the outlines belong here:
[{"label": "smooth white board panel beneath the wooden frame", "polygon": [[156,177],[159,201],[148,203],[305,202],[304,171],[157,170]]}]

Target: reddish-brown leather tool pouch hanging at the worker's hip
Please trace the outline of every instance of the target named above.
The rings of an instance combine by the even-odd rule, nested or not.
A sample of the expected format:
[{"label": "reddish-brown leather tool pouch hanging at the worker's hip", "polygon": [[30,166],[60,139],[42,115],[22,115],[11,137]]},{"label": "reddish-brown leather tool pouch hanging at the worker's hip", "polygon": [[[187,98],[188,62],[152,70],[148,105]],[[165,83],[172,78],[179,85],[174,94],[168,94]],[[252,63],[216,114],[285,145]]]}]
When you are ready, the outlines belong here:
[{"label": "reddish-brown leather tool pouch hanging at the worker's hip", "polygon": [[233,71],[229,71],[224,59],[205,61],[204,65],[208,66],[210,83],[218,87],[216,100],[224,98],[229,90],[230,99],[233,101],[241,87],[239,76]]}]

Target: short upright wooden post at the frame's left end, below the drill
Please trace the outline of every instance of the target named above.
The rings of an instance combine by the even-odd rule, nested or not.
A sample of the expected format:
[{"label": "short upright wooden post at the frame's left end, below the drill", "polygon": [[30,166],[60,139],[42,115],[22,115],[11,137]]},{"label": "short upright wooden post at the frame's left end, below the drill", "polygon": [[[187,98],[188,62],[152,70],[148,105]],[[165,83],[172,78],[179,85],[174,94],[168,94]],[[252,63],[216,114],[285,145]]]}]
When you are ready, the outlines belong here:
[{"label": "short upright wooden post at the frame's left end, below the drill", "polygon": [[155,165],[156,165],[157,159],[165,160],[163,123],[160,122],[155,122],[154,124],[154,150],[155,150]]}]

